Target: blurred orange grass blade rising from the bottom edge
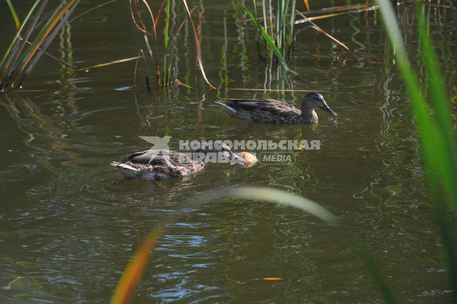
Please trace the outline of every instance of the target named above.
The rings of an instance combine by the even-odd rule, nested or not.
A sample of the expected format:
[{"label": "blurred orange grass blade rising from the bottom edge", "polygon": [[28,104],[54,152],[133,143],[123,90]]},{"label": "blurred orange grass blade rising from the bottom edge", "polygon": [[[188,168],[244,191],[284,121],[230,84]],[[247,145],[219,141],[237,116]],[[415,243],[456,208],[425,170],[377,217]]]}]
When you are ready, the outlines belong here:
[{"label": "blurred orange grass blade rising from the bottom edge", "polygon": [[111,304],[127,304],[133,298],[133,293],[137,287],[138,281],[143,275],[143,270],[149,260],[149,251],[154,248],[156,240],[159,238],[159,231],[153,230],[149,233],[146,240],[143,242],[132,260],[128,263],[121,279],[117,283],[111,299]]}]

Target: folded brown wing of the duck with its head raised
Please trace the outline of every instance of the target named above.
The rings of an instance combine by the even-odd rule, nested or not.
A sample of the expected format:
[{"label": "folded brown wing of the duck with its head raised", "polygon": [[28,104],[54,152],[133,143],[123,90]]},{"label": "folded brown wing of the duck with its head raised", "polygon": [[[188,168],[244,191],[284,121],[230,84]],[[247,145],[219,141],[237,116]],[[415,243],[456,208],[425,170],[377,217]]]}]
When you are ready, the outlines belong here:
[{"label": "folded brown wing of the duck with its head raised", "polygon": [[270,112],[274,116],[282,116],[287,112],[294,112],[298,115],[302,114],[302,111],[298,110],[293,105],[277,101],[271,98],[265,99],[228,99],[233,101],[240,109],[245,111],[266,111]]}]

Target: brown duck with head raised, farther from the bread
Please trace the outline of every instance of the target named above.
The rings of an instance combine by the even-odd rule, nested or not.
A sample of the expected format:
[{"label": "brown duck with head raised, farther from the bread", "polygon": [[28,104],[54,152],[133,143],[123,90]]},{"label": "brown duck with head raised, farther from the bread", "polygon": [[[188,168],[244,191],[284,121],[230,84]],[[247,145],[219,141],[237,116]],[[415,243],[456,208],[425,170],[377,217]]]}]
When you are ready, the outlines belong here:
[{"label": "brown duck with head raised, farther from the bread", "polygon": [[258,123],[317,123],[315,109],[336,117],[336,113],[327,106],[324,96],[318,92],[306,94],[301,111],[289,103],[271,98],[228,100],[216,101],[225,108],[228,116]]}]

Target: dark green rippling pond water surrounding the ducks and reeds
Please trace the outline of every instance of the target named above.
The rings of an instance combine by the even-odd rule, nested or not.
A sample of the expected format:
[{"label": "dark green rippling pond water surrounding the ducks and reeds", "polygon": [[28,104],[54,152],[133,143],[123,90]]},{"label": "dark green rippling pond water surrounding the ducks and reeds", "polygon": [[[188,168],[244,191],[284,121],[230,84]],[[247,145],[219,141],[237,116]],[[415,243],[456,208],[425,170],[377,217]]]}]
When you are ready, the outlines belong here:
[{"label": "dark green rippling pond water surrounding the ducks and reeds", "polygon": [[[94,5],[88,2],[77,11]],[[160,3],[151,1],[154,13]],[[171,3],[175,33],[183,5]],[[0,96],[0,303],[108,303],[133,251],[163,221],[168,224],[134,303],[383,303],[354,248],[320,219],[261,201],[189,207],[203,192],[240,185],[273,187],[321,204],[367,246],[401,303],[448,303],[414,114],[379,15],[377,24],[373,13],[361,14],[360,23],[356,14],[317,22],[362,58],[387,64],[350,55],[338,60],[341,49],[309,31],[299,37],[292,60],[298,75],[277,83],[257,58],[254,26],[242,21],[247,15],[230,1],[189,5],[202,12],[203,63],[217,90],[207,91],[200,74],[195,83],[195,44],[186,24],[173,64],[177,78],[196,90],[174,85],[148,94],[141,61],[134,91],[135,61],[75,73],[43,57],[24,83],[25,90],[43,91]],[[25,16],[28,5],[16,6]],[[2,32],[12,33],[7,5],[0,7]],[[412,11],[399,16],[420,67]],[[457,91],[452,18],[449,8],[430,7],[430,32],[449,71],[443,89],[451,97]],[[162,15],[160,41],[163,22]],[[11,37],[0,37],[2,52]],[[120,1],[72,23],[48,51],[85,67],[134,57],[141,48],[128,2]],[[271,97],[298,105],[305,93],[233,88],[324,91],[338,119],[319,112],[317,124],[249,124],[229,118],[214,101]],[[293,165],[209,164],[161,181],[168,190],[149,181],[113,183],[121,175],[112,160],[149,149],[138,136],[165,135],[172,137],[171,149],[193,139],[320,140],[321,149],[299,151]]]}]

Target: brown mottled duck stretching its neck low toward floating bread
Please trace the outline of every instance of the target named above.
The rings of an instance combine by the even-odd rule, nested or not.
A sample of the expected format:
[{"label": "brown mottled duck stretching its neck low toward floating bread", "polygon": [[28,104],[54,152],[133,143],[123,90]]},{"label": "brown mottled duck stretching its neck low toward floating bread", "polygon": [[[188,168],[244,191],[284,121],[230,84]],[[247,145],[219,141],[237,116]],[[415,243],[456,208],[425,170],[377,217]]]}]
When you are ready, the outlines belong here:
[{"label": "brown mottled duck stretching its neck low toward floating bread", "polygon": [[[127,155],[126,159],[117,162],[113,161],[112,166],[117,167],[122,175],[135,181],[158,181],[173,177],[181,177],[192,174],[202,169],[208,162],[208,153],[213,161],[220,160],[241,161],[244,160],[234,154],[227,144],[216,141],[200,147],[188,157],[184,153],[172,150],[145,150]],[[189,155],[189,154],[188,154]],[[195,159],[194,159],[195,158]],[[211,161],[211,160],[210,160]]]}]

